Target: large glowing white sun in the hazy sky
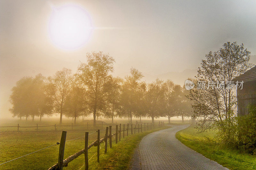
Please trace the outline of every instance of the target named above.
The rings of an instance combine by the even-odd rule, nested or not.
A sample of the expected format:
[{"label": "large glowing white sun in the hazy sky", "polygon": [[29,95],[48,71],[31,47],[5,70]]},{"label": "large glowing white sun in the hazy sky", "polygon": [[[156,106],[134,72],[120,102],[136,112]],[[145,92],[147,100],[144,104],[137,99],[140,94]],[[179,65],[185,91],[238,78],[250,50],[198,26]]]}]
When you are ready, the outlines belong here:
[{"label": "large glowing white sun in the hazy sky", "polygon": [[92,19],[82,7],[69,4],[53,8],[49,35],[57,47],[80,48],[90,39],[92,30]]}]

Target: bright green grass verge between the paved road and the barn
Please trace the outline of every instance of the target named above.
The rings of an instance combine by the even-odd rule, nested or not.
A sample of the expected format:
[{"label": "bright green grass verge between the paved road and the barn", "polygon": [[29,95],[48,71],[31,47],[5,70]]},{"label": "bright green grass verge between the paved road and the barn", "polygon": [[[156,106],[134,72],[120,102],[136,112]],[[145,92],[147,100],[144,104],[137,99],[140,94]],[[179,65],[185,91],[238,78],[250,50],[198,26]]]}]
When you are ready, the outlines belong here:
[{"label": "bright green grass verge between the paved road and the barn", "polygon": [[183,144],[222,166],[237,170],[256,169],[256,156],[221,146],[215,140],[215,136],[215,131],[198,134],[193,126],[176,133],[176,138]]}]

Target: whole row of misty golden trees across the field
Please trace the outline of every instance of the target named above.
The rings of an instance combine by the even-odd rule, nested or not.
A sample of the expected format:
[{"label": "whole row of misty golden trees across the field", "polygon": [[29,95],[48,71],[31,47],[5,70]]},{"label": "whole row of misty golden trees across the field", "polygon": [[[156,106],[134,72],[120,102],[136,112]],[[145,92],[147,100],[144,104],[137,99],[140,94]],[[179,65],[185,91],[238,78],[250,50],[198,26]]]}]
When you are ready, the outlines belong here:
[{"label": "whole row of misty golden trees across the field", "polygon": [[75,74],[63,68],[52,77],[41,74],[24,77],[12,88],[10,109],[13,116],[26,117],[60,114],[62,116],[112,118],[192,115],[188,91],[171,80],[141,81],[142,73],[132,68],[124,79],[113,77],[114,59],[102,52],[87,53],[87,63],[80,63]]}]

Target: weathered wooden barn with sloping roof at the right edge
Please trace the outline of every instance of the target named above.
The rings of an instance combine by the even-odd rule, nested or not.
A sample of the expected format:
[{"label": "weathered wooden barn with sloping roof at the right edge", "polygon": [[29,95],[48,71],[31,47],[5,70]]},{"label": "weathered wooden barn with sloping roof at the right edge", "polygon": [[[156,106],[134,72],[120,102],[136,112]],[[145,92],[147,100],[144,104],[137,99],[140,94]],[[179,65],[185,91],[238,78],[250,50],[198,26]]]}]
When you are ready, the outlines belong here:
[{"label": "weathered wooden barn with sloping roof at the right edge", "polygon": [[247,70],[244,74],[236,77],[233,81],[243,83],[243,89],[237,89],[237,114],[247,115],[247,105],[251,103],[256,106],[256,66]]}]

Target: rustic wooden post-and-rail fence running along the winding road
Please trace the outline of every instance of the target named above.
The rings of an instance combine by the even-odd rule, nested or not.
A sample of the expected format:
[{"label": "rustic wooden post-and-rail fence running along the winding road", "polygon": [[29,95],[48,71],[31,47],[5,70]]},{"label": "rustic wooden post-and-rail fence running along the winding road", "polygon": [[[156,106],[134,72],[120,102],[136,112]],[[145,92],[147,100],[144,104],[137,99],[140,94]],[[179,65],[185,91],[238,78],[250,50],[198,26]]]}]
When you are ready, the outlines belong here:
[{"label": "rustic wooden post-and-rail fence running along the winding road", "polygon": [[[144,124],[144,128],[142,128],[142,125]],[[97,140],[95,140],[94,142],[92,142],[91,144],[88,145],[88,137],[89,137],[89,132],[85,132],[85,142],[84,142],[84,149],[80,150],[79,152],[76,152],[75,154],[69,156],[68,158],[64,159],[64,149],[65,149],[65,141],[66,141],[66,135],[67,132],[66,131],[62,131],[62,135],[60,138],[60,149],[59,149],[59,157],[58,157],[58,163],[56,163],[55,165],[53,165],[52,167],[50,167],[48,170],[62,170],[63,167],[68,166],[68,163],[71,162],[72,160],[76,159],[78,156],[84,154],[84,165],[85,165],[85,170],[88,170],[89,166],[88,166],[88,149],[90,149],[92,146],[97,146],[97,162],[100,162],[100,143],[102,143],[103,141],[105,142],[105,151],[104,153],[107,153],[107,149],[108,149],[108,139],[109,139],[109,147],[112,147],[112,137],[115,136],[115,140],[116,140],[116,144],[118,142],[118,134],[119,134],[119,141],[121,140],[121,132],[123,132],[123,138],[125,136],[125,131],[127,132],[128,136],[128,132],[129,130],[131,130],[131,134],[135,134],[136,132],[140,133],[143,131],[147,130],[151,130],[152,127],[155,129],[155,126],[157,127],[163,127],[164,126],[164,122],[159,122],[159,124],[157,125],[157,123],[139,123],[136,124],[134,128],[132,128],[132,124],[130,124],[130,129],[129,129],[129,123],[127,123],[127,128],[125,129],[125,124],[123,124],[123,126],[121,124],[119,124],[119,130],[118,130],[118,125],[116,125],[116,133],[112,134],[112,125],[110,125],[109,127],[106,127],[106,133],[105,136],[100,138],[100,129],[98,129],[98,138]],[[136,127],[137,126],[137,127]],[[121,130],[121,128],[123,127],[123,130]],[[109,132],[108,132],[109,129]],[[134,132],[133,132],[134,131]]]}]

